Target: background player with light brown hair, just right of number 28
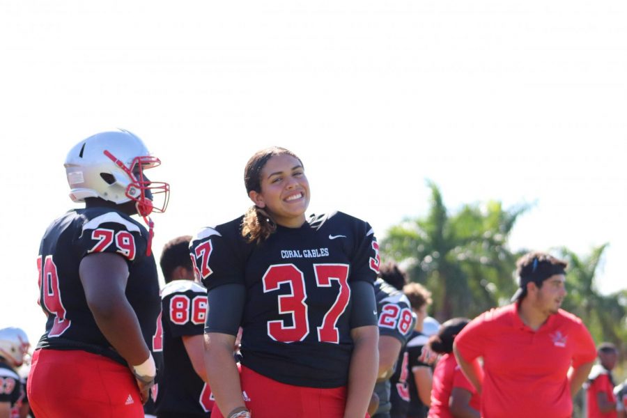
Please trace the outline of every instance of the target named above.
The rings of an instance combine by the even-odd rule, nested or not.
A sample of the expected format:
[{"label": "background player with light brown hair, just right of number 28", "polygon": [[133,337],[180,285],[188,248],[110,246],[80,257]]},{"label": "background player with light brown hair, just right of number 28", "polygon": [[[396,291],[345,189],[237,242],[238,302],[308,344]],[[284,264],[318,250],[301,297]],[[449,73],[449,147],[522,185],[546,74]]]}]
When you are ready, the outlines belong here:
[{"label": "background player with light brown hair, just right of number 28", "polygon": [[431,292],[419,283],[405,285],[403,293],[408,297],[412,310],[417,317],[416,325],[407,343],[408,351],[408,392],[410,405],[407,417],[425,418],[431,404],[431,380],[433,378],[431,364],[424,359],[423,348],[428,343],[428,337],[438,332],[437,321],[429,320],[430,325],[435,321],[436,327],[426,327],[427,310],[431,305]]}]

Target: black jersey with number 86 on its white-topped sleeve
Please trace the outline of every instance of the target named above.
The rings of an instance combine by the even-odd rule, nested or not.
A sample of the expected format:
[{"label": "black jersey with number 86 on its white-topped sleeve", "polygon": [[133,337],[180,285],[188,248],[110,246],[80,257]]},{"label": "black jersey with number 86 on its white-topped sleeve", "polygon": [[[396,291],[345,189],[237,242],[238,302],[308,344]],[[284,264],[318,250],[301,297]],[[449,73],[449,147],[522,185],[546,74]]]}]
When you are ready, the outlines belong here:
[{"label": "black jersey with number 86 on its white-topped sleeve", "polygon": [[159,385],[157,414],[209,417],[213,400],[209,385],[196,374],[183,336],[202,335],[207,289],[190,280],[175,280],[161,291],[164,373]]}]

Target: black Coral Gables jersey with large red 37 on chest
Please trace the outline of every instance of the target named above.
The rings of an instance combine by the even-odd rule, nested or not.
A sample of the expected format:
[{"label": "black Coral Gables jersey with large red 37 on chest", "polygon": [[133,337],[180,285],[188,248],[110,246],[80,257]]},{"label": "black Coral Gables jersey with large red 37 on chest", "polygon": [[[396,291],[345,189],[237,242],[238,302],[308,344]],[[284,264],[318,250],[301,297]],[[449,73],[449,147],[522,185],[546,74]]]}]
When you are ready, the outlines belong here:
[{"label": "black Coral Gables jersey with large red 37 on chest", "polygon": [[288,385],[346,385],[350,286],[373,283],[380,262],[371,226],[342,212],[312,215],[300,228],[277,226],[249,244],[241,224],[242,217],[204,229],[191,250],[208,291],[246,288],[242,364]]}]

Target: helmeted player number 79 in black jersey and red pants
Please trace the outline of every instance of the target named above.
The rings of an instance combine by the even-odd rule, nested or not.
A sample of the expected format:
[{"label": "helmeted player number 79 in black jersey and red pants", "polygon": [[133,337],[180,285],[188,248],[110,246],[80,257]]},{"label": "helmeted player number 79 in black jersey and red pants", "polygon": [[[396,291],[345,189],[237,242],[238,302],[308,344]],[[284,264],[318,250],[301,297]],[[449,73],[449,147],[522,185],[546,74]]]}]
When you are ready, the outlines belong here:
[{"label": "helmeted player number 79 in black jersey and red pants", "polygon": [[169,194],[144,171],[159,164],[125,130],[88,137],[65,159],[70,198],[85,208],[54,220],[40,245],[47,323],[27,384],[38,418],[144,416],[161,311],[149,216],[165,210]]}]

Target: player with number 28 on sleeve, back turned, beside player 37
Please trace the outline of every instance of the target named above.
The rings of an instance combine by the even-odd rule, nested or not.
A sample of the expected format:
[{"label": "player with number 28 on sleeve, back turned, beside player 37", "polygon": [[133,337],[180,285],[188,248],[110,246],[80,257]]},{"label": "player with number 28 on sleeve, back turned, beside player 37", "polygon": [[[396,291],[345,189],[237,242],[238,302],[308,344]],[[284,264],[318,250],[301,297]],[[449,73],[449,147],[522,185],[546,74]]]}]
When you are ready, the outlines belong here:
[{"label": "player with number 28 on sleeve, back turned, beside player 37", "polygon": [[394,373],[399,355],[404,352],[405,344],[416,323],[410,301],[403,291],[388,284],[387,279],[397,285],[398,281],[404,281],[404,275],[396,263],[382,265],[379,278],[374,284],[379,318],[379,372],[375,385],[378,408],[373,418],[390,417],[392,403],[389,399],[392,387],[389,378]]}]

